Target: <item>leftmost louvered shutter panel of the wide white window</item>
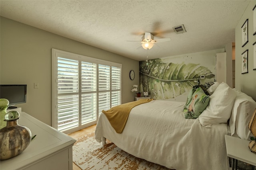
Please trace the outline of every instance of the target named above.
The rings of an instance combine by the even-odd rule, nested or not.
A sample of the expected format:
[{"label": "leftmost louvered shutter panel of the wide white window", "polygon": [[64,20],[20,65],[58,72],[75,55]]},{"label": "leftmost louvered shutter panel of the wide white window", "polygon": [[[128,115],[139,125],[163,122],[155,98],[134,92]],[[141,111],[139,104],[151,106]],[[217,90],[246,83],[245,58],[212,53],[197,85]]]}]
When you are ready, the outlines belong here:
[{"label": "leftmost louvered shutter panel of the wide white window", "polygon": [[58,57],[58,130],[78,127],[78,61]]}]

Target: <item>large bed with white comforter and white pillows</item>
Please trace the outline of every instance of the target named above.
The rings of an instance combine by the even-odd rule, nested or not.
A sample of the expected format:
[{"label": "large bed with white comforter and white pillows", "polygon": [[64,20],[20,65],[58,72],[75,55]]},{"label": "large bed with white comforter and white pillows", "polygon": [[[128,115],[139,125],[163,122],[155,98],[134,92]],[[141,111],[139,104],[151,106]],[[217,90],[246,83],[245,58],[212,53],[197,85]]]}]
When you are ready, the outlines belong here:
[{"label": "large bed with white comforter and white pillows", "polygon": [[[96,125],[95,139],[103,144],[108,139],[129,154],[171,169],[227,170],[224,136],[247,138],[250,135],[249,130],[244,130],[250,115],[242,112],[248,106],[254,110],[256,102],[223,84],[216,83],[209,88],[209,104],[195,119],[184,118],[184,106],[188,101],[153,100],[133,107],[122,133],[116,133],[102,113]],[[220,94],[224,96],[223,100]],[[242,107],[244,104],[247,106]],[[243,121],[238,122],[237,117]],[[230,123],[227,123],[229,119]],[[239,136],[237,131],[241,127],[243,132],[239,132],[242,134]]]}]

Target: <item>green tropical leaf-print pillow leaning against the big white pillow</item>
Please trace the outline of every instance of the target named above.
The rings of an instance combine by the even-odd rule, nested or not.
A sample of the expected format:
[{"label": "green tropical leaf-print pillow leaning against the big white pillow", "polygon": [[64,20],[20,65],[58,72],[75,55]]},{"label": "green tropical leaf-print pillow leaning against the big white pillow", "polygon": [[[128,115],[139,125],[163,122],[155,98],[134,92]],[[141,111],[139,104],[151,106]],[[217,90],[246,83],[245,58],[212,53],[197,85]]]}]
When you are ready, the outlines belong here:
[{"label": "green tropical leaf-print pillow leaning against the big white pillow", "polygon": [[[191,93],[193,95],[191,95]],[[188,100],[183,109],[186,119],[196,119],[208,106],[210,102],[210,96],[206,95],[202,88],[192,89],[188,94]]]}]

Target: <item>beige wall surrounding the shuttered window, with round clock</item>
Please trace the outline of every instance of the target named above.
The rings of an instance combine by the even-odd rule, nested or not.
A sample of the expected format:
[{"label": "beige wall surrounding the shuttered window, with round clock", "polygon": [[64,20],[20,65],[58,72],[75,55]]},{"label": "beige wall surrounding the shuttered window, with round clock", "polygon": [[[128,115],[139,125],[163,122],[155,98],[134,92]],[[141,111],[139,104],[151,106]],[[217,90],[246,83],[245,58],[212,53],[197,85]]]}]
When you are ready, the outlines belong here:
[{"label": "beige wall surrounding the shuttered window, with round clock", "polygon": [[[0,18],[0,84],[27,84],[22,111],[52,124],[52,48],[122,64],[122,103],[134,100],[132,84],[139,82],[139,62],[42,29]],[[134,70],[135,79],[129,72]],[[34,83],[39,88],[34,88]]]}]

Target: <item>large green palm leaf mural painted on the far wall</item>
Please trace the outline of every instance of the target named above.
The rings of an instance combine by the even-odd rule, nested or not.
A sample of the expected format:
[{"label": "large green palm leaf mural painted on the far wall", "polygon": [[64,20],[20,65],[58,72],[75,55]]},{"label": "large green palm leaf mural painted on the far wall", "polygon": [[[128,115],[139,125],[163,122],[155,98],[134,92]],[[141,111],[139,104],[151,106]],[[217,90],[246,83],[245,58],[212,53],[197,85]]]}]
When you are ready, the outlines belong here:
[{"label": "large green palm leaf mural painted on the far wall", "polygon": [[194,63],[164,63],[161,59],[140,61],[140,92],[153,99],[170,99],[189,92],[198,83],[214,82],[215,75],[205,66]]}]

